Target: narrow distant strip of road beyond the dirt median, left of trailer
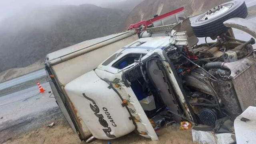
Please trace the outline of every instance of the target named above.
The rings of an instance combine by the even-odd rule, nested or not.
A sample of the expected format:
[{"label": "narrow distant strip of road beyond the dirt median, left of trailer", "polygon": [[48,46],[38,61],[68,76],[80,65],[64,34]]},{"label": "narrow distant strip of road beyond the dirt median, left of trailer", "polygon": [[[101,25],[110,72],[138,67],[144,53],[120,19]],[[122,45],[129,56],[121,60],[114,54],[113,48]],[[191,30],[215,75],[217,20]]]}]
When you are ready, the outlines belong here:
[{"label": "narrow distant strip of road beyond the dirt median, left of trailer", "polygon": [[18,78],[14,78],[12,80],[8,80],[6,82],[2,82],[2,83],[0,83],[0,90],[3,90],[5,88],[9,88],[11,86],[15,86],[15,85],[18,85],[18,84],[22,84],[24,82],[27,82],[29,80],[34,80],[34,79],[40,78],[42,76],[46,76],[46,72],[45,72],[44,69],[26,74],[24,76],[20,76]]}]

